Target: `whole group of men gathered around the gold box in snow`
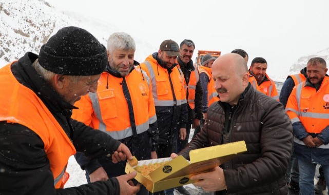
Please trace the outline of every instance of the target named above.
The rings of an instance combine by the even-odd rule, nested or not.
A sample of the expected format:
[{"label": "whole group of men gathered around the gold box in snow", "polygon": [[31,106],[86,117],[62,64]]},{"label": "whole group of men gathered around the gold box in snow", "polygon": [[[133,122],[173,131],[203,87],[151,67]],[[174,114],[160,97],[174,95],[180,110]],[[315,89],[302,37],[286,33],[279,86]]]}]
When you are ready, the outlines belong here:
[{"label": "whole group of men gathered around the gold box in snow", "polygon": [[[88,31],[65,27],[39,55],[27,52],[0,69],[1,194],[148,194],[136,172],[125,174],[132,155],[189,159],[191,149],[242,140],[248,152],[190,179],[216,194],[287,194],[293,131],[307,171],[299,183],[310,188],[307,176],[313,163],[326,162],[319,153],[329,139],[325,61],[310,60],[309,79],[292,90],[285,111],[265,59],[248,69],[248,54],[237,49],[197,65],[194,50],[191,40],[165,40],[139,64],[129,34],[111,34],[105,48]],[[88,184],[64,188],[73,154]]]}]

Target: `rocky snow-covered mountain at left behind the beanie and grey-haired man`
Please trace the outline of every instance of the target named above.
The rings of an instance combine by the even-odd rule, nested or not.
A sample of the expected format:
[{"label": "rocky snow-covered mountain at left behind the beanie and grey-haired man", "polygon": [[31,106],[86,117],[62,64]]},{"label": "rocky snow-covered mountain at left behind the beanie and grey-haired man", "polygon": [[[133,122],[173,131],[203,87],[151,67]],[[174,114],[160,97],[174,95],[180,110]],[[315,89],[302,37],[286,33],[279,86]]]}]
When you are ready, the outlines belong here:
[{"label": "rocky snow-covered mountain at left behind the beanie and grey-haired man", "polygon": [[[0,0],[0,67],[23,56],[38,53],[48,38],[65,26],[88,30],[106,46],[108,36],[120,31],[115,25],[71,12],[60,12],[44,0]],[[135,59],[143,62],[157,47],[134,38]]]}]

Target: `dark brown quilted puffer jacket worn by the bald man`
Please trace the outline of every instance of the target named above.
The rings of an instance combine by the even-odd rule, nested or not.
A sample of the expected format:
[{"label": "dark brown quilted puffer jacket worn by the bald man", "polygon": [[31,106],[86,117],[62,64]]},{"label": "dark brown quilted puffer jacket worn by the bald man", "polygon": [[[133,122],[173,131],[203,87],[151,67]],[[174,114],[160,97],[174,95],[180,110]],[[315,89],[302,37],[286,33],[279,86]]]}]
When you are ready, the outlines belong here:
[{"label": "dark brown quilted puffer jacket worn by the bald man", "polygon": [[246,142],[247,152],[229,161],[233,169],[224,169],[227,192],[216,194],[287,194],[284,177],[293,134],[282,104],[249,84],[235,108],[212,104],[201,132],[179,154],[188,158],[191,149],[222,144],[229,131],[231,142]]}]

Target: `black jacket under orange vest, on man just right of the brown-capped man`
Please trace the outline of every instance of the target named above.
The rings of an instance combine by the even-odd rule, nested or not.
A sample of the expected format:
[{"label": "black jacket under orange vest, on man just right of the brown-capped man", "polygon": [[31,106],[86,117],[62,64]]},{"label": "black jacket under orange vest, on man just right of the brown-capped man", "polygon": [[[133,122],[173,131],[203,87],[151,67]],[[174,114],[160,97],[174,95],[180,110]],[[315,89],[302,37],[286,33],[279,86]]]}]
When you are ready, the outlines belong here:
[{"label": "black jacket under orange vest, on man just right of the brown-capped man", "polygon": [[[195,67],[193,66],[193,61],[189,61],[186,65],[181,61],[181,59],[178,57],[177,62],[179,66],[181,67],[181,70],[184,74],[184,79],[186,82],[186,85],[188,85],[189,78],[191,75],[191,72],[195,70]],[[198,71],[198,70],[195,70]],[[198,71],[199,72],[199,71]],[[188,90],[186,90],[186,100],[188,97]],[[187,106],[187,112],[188,112],[188,124],[192,124],[193,119],[203,119],[202,115],[202,86],[200,80],[197,83],[196,86],[196,96],[195,96],[195,109],[191,109],[189,106]],[[187,104],[188,105],[188,104]]]}]

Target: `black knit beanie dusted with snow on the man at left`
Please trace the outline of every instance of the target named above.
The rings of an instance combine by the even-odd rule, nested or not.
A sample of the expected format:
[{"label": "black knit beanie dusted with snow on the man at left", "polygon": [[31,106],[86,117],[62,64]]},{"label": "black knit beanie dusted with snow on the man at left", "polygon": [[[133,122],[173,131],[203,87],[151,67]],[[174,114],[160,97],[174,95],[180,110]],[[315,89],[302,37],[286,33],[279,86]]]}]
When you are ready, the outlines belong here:
[{"label": "black knit beanie dusted with snow on the man at left", "polygon": [[88,31],[70,26],[49,38],[38,59],[42,67],[56,74],[96,75],[106,68],[107,52]]}]

